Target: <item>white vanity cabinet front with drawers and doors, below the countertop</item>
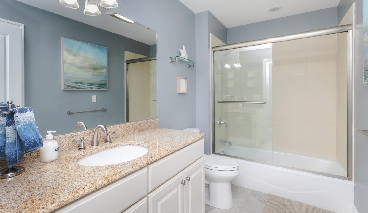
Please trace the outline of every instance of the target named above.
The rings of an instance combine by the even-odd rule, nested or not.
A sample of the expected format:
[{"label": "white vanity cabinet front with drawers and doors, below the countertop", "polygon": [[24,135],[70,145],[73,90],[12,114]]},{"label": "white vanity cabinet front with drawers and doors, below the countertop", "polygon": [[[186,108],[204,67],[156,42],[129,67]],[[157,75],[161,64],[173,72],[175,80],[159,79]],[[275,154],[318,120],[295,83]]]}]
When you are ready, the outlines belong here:
[{"label": "white vanity cabinet front with drawers and doors, below the countertop", "polygon": [[203,149],[201,139],[54,212],[204,212]]}]

